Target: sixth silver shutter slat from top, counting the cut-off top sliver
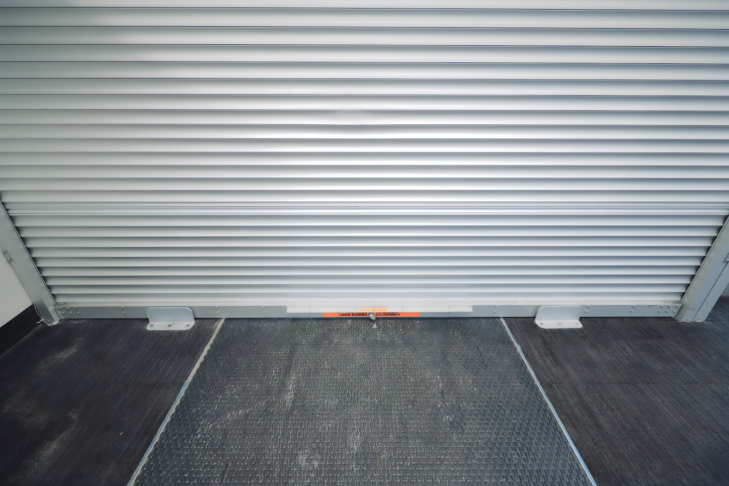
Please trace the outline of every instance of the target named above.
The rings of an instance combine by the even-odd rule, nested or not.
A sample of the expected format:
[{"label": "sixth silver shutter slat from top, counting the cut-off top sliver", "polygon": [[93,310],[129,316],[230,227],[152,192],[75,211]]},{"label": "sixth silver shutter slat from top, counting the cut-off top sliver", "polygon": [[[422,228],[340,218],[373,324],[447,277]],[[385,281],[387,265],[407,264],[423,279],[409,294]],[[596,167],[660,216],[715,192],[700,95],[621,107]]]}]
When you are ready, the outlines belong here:
[{"label": "sixth silver shutter slat from top, counting the cut-off top sliver", "polygon": [[[726,96],[727,81],[531,79],[0,79],[0,93],[58,95]],[[149,112],[148,112],[149,114]],[[149,114],[157,117],[158,114]],[[637,114],[639,115],[639,114]],[[229,114],[219,113],[217,122]],[[289,111],[290,117],[303,114]],[[314,113],[312,117],[322,117]],[[270,116],[269,116],[270,118]],[[332,116],[333,121],[337,117]],[[338,118],[343,119],[340,115]],[[286,120],[281,120],[286,122]],[[69,117],[69,122],[74,122]],[[290,119],[288,121],[291,123]],[[310,120],[311,122],[311,120]]]}]

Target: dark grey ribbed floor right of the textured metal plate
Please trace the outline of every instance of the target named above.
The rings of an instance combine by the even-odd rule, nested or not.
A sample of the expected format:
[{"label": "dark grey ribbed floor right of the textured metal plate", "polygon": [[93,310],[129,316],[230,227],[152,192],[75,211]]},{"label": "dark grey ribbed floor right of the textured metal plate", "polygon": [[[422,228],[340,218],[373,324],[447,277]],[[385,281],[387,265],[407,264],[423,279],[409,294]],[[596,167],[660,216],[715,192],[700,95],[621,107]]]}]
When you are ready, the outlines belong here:
[{"label": "dark grey ribbed floor right of the textured metal plate", "polygon": [[729,297],[706,323],[506,321],[598,485],[729,485]]}]

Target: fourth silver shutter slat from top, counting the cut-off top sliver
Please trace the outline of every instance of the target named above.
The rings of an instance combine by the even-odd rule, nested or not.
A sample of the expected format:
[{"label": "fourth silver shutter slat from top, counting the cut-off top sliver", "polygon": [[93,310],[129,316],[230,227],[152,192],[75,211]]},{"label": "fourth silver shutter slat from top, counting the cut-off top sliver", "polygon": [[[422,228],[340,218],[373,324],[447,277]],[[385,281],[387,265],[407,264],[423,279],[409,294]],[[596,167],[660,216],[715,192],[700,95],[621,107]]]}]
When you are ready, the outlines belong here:
[{"label": "fourth silver shutter slat from top, counting the cut-off top sliver", "polygon": [[0,61],[257,63],[669,63],[729,62],[725,47],[359,45],[0,45]]}]

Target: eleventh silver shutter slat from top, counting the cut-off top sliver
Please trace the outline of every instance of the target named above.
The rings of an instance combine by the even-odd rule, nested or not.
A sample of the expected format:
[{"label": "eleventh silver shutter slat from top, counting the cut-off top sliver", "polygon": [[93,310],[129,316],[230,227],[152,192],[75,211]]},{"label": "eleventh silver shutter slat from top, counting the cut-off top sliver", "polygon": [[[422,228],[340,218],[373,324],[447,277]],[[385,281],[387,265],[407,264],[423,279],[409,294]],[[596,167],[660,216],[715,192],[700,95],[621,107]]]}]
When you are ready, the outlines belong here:
[{"label": "eleventh silver shutter slat from top, counting the cut-off top sliver", "polygon": [[[616,171],[625,167],[666,167],[677,168],[682,165],[693,164],[696,167],[706,168],[709,171],[715,167],[725,167],[727,159],[721,153],[650,153],[650,152],[246,152],[246,157],[235,152],[55,152],[53,157],[47,152],[6,152],[2,158],[2,168],[5,173],[17,172],[17,166],[32,167],[43,165],[47,168],[65,165],[69,172],[83,171],[81,167],[90,170],[94,166],[109,167],[109,171],[127,166],[149,165],[149,171],[160,168],[179,168],[180,171],[195,170],[197,164],[207,164],[219,170],[239,166],[241,171],[254,168],[258,165],[275,167],[288,166],[292,170],[300,167],[338,167],[346,171],[347,168],[388,167],[397,168],[422,166],[444,166],[452,164],[455,167],[488,167],[495,171],[503,170],[502,166],[529,166],[542,167],[599,167],[612,166]],[[151,167],[155,166],[155,167]],[[299,167],[299,169],[294,169]],[[395,168],[394,170],[397,170]],[[21,171],[23,169],[20,169]],[[104,169],[106,170],[106,169]],[[212,169],[211,169],[212,170]],[[424,169],[427,170],[427,169]],[[518,170],[518,169],[515,169]],[[601,170],[596,168],[597,171]],[[15,172],[14,172],[15,171]],[[130,173],[127,176],[132,175]]]}]

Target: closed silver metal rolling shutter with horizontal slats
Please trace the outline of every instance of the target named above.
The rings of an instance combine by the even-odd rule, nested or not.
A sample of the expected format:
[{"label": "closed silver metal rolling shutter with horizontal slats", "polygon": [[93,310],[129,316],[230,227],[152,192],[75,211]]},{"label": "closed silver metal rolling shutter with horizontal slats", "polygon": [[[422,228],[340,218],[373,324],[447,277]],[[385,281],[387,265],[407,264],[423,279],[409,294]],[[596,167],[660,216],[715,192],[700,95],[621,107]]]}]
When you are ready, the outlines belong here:
[{"label": "closed silver metal rolling shutter with horizontal slats", "polygon": [[728,213],[725,1],[0,4],[64,305],[658,305]]}]

